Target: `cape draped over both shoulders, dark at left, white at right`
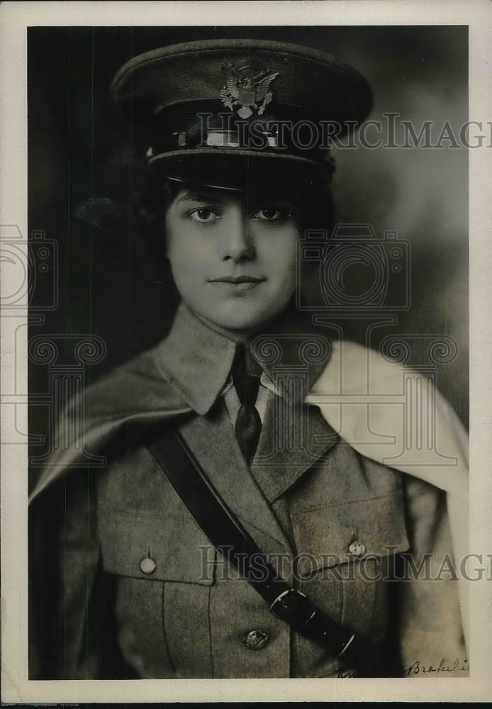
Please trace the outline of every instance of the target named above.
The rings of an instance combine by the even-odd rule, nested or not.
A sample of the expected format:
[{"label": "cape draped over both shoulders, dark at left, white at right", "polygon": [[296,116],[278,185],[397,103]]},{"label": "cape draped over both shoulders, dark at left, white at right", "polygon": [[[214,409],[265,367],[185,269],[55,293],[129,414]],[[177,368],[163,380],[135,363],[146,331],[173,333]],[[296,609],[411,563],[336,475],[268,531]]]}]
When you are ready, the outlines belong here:
[{"label": "cape draped over both shoulders, dark at left, white at right", "polygon": [[[330,427],[360,454],[446,491],[459,575],[459,562],[469,551],[468,441],[430,379],[362,345],[332,342],[328,364],[306,403],[318,406]],[[88,456],[104,454],[122,430],[145,437],[164,421],[190,413],[162,378],[154,350],[146,352],[69,404],[30,501],[71,467],[90,464]],[[469,598],[462,577],[459,597],[468,644]]]}]

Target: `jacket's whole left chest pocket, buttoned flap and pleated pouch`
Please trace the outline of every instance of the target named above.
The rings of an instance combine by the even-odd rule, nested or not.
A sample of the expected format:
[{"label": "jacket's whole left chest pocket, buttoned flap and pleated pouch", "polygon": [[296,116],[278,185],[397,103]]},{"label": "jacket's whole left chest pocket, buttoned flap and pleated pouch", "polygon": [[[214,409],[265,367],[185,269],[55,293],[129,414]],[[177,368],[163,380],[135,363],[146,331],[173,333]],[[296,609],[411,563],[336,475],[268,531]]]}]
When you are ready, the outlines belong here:
[{"label": "jacket's whole left chest pocket, buttoned flap and pleated pouch", "polygon": [[142,679],[211,676],[208,593],[216,552],[184,515],[99,515],[104,570],[117,578],[125,661]]}]

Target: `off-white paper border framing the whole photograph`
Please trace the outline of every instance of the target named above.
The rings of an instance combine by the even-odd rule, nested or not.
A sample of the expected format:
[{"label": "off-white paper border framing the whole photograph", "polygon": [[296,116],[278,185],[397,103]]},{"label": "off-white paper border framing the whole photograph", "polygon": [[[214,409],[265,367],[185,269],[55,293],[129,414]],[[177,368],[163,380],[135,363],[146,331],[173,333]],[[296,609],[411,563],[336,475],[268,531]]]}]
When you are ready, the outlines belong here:
[{"label": "off-white paper border framing the whole photograph", "polygon": [[[59,4],[6,2],[0,6],[1,79],[1,217],[2,230],[15,226],[27,238],[27,95],[26,28],[28,26],[104,25],[268,25],[281,19],[289,25],[431,25],[469,26],[469,119],[492,121],[492,10],[486,1],[371,2],[333,0],[303,2],[106,2]],[[252,13],[252,9],[254,12]],[[145,22],[143,21],[145,18]],[[492,124],[491,124],[492,125]],[[469,152],[470,226],[470,550],[492,554],[492,493],[486,434],[491,428],[492,333],[489,270],[492,267],[491,145]],[[6,284],[1,285],[6,292]],[[27,391],[27,327],[17,336],[16,371],[5,367],[19,325],[27,323],[27,308],[15,317],[1,317],[1,389],[9,381]],[[17,333],[18,335],[18,333]],[[485,383],[485,385],[484,385]],[[26,401],[27,403],[27,401]],[[27,430],[25,407],[18,425]],[[6,423],[2,418],[2,435]],[[465,701],[492,698],[492,584],[471,584],[471,676],[466,679],[342,679],[272,680],[139,680],[30,681],[27,679],[27,462],[26,445],[1,448],[1,588],[2,700],[4,703],[172,702],[194,701]],[[489,564],[492,557],[489,557]],[[490,579],[490,574],[488,578]]]}]

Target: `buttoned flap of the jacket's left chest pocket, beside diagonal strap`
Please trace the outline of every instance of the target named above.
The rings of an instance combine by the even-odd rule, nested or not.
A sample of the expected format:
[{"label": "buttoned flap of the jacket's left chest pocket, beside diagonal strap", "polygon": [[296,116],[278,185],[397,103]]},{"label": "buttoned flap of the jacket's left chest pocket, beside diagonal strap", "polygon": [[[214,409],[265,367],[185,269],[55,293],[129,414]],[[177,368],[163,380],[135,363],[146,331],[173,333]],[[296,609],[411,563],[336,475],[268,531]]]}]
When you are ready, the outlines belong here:
[{"label": "buttoned flap of the jacket's left chest pocket, beside diagonal strap", "polygon": [[103,566],[111,574],[213,583],[215,549],[191,518],[111,510],[99,517],[99,536]]}]

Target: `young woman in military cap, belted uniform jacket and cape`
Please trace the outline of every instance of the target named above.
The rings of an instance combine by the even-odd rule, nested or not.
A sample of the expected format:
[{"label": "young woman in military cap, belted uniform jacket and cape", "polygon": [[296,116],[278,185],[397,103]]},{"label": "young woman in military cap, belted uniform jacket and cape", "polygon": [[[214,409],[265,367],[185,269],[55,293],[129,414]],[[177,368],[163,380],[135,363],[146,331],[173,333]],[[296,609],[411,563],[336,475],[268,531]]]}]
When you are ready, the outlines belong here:
[{"label": "young woman in military cap, belted uniform jacket and cape", "polygon": [[[296,309],[313,277],[299,242],[332,226],[327,126],[340,135],[367,116],[367,83],[321,52],[233,40],[135,57],[113,94],[149,135],[143,203],[181,305],[160,345],[67,407],[60,440],[77,422],[82,433],[33,493],[59,586],[32,633],[33,674],[463,676],[458,584],[442,574],[452,559],[443,490],[448,501],[466,491],[456,419],[431,391],[451,474],[388,467],[387,450],[359,437],[367,413],[352,406],[347,438],[326,396],[340,409],[339,380],[340,394],[360,393],[369,362],[389,404],[401,368]],[[375,430],[392,433],[386,408]],[[169,449],[176,435],[182,449]],[[82,465],[88,455],[105,466]],[[223,511],[200,509],[199,479],[249,540],[234,550],[245,552],[242,570]],[[270,572],[252,564],[250,542],[293,589],[289,602],[314,609],[310,632],[297,627],[300,606],[291,623],[270,612]],[[41,583],[33,574],[38,617]],[[329,635],[340,635],[338,650]]]}]

